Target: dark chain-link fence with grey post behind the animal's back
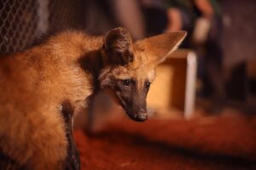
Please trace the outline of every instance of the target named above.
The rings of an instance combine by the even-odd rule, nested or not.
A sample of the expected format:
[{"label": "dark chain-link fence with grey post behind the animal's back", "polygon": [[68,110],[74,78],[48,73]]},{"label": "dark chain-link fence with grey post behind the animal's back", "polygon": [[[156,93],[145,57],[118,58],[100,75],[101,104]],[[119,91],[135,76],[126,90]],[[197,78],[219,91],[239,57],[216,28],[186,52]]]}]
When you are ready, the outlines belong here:
[{"label": "dark chain-link fence with grey post behind the animal's back", "polygon": [[83,0],[1,0],[0,53],[29,48],[44,34],[83,28]]}]

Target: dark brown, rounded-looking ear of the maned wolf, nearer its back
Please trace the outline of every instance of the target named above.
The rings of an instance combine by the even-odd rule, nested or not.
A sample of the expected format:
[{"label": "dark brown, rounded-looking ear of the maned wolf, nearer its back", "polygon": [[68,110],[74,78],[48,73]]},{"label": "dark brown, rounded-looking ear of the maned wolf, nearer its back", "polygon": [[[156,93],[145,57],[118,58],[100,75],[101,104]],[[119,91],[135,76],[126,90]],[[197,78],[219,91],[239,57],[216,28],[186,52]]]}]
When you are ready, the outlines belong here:
[{"label": "dark brown, rounded-looking ear of the maned wolf, nearer its back", "polygon": [[133,61],[131,34],[125,28],[108,31],[103,44],[103,58],[109,65],[127,65]]}]

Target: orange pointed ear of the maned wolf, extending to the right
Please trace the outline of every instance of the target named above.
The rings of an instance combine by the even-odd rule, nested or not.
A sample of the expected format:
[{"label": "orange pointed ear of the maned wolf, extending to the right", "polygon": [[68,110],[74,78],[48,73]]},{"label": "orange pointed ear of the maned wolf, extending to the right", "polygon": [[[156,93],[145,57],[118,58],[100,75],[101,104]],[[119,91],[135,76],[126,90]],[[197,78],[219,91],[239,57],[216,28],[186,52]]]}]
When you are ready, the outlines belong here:
[{"label": "orange pointed ear of the maned wolf, extending to the right", "polygon": [[163,62],[169,54],[172,54],[186,35],[186,31],[160,34],[136,42],[135,47],[147,54],[145,57],[148,58],[146,60],[149,65],[155,66]]}]

